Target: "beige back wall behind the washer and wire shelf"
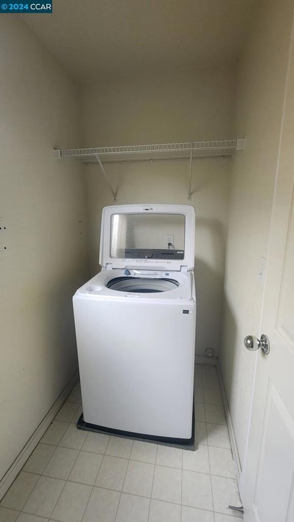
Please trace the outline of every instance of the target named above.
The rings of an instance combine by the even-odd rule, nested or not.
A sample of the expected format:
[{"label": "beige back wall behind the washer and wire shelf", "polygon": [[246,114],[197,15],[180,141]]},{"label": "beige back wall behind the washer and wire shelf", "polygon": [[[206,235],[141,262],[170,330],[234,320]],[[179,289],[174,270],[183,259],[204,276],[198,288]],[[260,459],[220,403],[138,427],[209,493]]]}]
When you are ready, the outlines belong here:
[{"label": "beige back wall behind the washer and wire shelf", "polygon": [[[232,137],[234,72],[199,69],[163,77],[116,79],[83,90],[84,146],[167,143]],[[189,164],[145,162],[105,165],[117,188],[117,204],[191,204],[196,211],[196,351],[217,352],[224,277],[230,159]],[[91,271],[99,270],[100,217],[113,205],[98,166],[85,167],[89,198]]]}]

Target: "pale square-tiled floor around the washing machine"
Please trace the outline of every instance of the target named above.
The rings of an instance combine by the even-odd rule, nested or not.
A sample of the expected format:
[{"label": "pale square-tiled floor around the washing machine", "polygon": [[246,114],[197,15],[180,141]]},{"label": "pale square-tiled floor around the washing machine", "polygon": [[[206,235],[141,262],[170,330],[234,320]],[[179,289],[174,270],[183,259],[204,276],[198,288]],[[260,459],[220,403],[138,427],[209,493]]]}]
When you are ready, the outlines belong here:
[{"label": "pale square-tiled floor around the washing machine", "polygon": [[215,367],[195,366],[195,452],[79,431],[79,385],[0,503],[0,522],[240,522]]}]

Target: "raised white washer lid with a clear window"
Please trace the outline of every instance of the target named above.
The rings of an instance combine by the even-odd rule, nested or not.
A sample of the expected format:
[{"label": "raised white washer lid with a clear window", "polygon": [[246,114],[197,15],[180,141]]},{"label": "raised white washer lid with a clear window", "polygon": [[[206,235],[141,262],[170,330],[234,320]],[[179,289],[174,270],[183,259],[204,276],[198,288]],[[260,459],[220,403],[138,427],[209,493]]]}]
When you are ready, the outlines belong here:
[{"label": "raised white washer lid with a clear window", "polygon": [[191,205],[104,207],[99,262],[106,268],[193,270],[194,238]]}]

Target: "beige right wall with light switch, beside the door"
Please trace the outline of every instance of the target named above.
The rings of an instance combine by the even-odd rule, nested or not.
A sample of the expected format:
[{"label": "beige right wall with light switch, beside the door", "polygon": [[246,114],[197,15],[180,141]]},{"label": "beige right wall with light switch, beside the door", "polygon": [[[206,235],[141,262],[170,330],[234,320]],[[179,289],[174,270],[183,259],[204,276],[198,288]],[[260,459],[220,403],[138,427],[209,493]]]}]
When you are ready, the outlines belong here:
[{"label": "beige right wall with light switch, beside the door", "polygon": [[256,357],[243,338],[259,333],[292,9],[292,0],[257,3],[238,66],[235,134],[246,146],[232,169],[220,362],[241,463]]}]

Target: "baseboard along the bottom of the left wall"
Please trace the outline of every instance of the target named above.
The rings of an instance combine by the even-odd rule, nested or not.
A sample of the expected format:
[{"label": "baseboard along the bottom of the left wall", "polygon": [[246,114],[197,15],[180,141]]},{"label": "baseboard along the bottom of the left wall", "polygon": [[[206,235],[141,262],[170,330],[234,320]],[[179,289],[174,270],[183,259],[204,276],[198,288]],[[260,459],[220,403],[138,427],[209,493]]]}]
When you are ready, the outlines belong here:
[{"label": "baseboard along the bottom of the left wall", "polygon": [[13,464],[10,466],[8,471],[6,471],[4,477],[0,480],[0,500],[3,499],[5,493],[9,489],[10,485],[13,483],[18,473],[20,472],[22,466],[28,460],[30,454],[33,452],[34,448],[37,446],[38,442],[44,435],[46,429],[49,427],[51,422],[53,421],[56,413],[62,407],[63,403],[67,399],[70,392],[72,392],[74,386],[78,382],[79,374],[78,372],[70,379],[69,383],[65,386],[63,392],[54,402],[53,406],[50,408],[49,412],[45,415],[45,417],[40,422],[38,428],[33,432],[32,436],[29,438],[27,444],[22,448],[19,455],[14,460]]}]

